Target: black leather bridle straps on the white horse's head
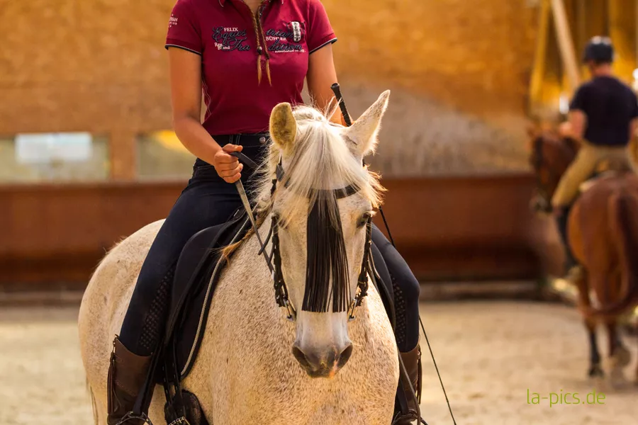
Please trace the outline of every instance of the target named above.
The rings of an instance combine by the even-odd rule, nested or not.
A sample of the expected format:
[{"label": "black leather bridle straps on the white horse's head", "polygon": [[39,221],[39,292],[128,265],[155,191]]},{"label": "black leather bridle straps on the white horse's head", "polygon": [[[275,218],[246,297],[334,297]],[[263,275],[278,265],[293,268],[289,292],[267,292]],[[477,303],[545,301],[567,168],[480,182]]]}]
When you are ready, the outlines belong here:
[{"label": "black leather bridle straps on the white horse's head", "polygon": [[[248,166],[255,166],[255,167],[257,166],[257,164],[252,162],[251,159],[245,157],[245,155],[241,154],[240,152],[234,152],[233,156],[239,158],[242,162],[244,162]],[[276,166],[275,174],[276,174],[275,178],[272,180],[272,188],[270,189],[271,200],[274,197],[274,193],[277,188],[277,183],[284,182],[284,178],[285,178],[285,172],[281,164],[281,158],[279,159],[279,164],[277,164]],[[237,181],[235,184],[237,183],[238,183],[238,186],[242,184],[241,181]],[[284,187],[287,187],[288,183],[289,181],[285,181],[283,183]],[[316,191],[320,191],[320,189],[316,189]],[[348,196],[352,196],[354,195],[354,193],[359,192],[359,188],[349,185],[344,188],[332,189],[331,191],[328,191],[328,192],[332,193],[332,195],[335,196],[336,199],[342,199],[342,198],[347,198]],[[240,194],[241,193],[242,193],[242,190],[240,190]],[[297,318],[297,310],[296,310],[296,307],[293,305],[293,302],[290,300],[289,290],[286,285],[286,280],[284,279],[284,273],[281,269],[281,248],[279,246],[279,217],[277,217],[275,214],[272,215],[270,230],[267,234],[266,240],[262,242],[262,239],[259,236],[259,231],[257,229],[256,221],[254,220],[254,217],[252,216],[252,210],[250,208],[246,208],[246,212],[250,217],[250,221],[252,222],[254,234],[257,235],[257,241],[259,243],[259,252],[257,253],[257,255],[264,256],[266,265],[268,266],[269,271],[271,273],[271,277],[272,277],[273,285],[274,285],[275,302],[279,307],[284,308],[286,310],[286,319],[290,320],[291,322],[295,322]],[[268,242],[271,240],[272,240],[272,249],[270,251],[270,254],[268,254],[266,251],[266,246]],[[356,308],[359,307],[359,305],[361,305],[363,298],[366,295],[368,295],[368,273],[370,273],[370,276],[374,276],[371,244],[372,244],[372,217],[369,217],[366,222],[366,240],[364,244],[364,255],[362,259],[361,269],[359,271],[359,278],[357,280],[357,289],[354,294],[354,297],[352,297],[352,300],[350,300],[348,308],[347,308],[349,321],[352,321],[356,318],[356,316],[354,316],[354,310],[356,310]]]}]

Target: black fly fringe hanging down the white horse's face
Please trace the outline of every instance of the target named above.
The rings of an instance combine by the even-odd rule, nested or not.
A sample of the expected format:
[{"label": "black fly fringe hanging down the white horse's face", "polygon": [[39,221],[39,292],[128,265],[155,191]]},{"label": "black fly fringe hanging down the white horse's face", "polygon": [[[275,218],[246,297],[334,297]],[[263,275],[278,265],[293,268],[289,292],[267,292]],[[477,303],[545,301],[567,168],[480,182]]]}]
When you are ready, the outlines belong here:
[{"label": "black fly fringe hanging down the white horse's face", "polygon": [[332,312],[345,312],[349,302],[348,259],[334,193],[320,193],[310,209],[306,228],[306,289],[302,310],[328,312],[332,298]]}]

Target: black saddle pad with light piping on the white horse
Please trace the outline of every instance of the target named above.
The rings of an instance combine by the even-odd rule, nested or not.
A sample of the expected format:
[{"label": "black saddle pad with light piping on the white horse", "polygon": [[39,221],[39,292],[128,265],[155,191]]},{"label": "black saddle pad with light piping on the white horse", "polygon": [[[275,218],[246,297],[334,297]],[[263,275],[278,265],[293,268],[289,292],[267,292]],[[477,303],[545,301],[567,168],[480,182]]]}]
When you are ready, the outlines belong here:
[{"label": "black saddle pad with light piping on the white horse", "polygon": [[[164,353],[169,356],[169,363],[174,363],[171,367],[179,372],[180,380],[186,378],[195,363],[206,328],[211,300],[227,263],[220,258],[220,249],[240,241],[250,227],[250,219],[245,210],[240,208],[224,225],[198,232],[189,240],[179,257]],[[395,312],[390,273],[374,244],[372,257],[375,275],[373,281],[377,285],[377,292],[381,295],[394,329]],[[161,384],[165,375],[159,373],[159,370],[157,372],[156,382]]]}]

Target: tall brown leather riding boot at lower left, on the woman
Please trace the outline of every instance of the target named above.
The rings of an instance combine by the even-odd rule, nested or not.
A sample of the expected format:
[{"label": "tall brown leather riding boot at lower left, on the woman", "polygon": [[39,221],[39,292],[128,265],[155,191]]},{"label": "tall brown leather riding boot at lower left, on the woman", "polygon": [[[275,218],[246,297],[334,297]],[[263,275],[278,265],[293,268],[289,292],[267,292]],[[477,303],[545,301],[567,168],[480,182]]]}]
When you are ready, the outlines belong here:
[{"label": "tall brown leather riding boot at lower left, on the woman", "polygon": [[[140,394],[150,366],[150,356],[138,356],[131,353],[120,342],[113,340],[111,365],[108,367],[108,400],[106,423],[117,425],[128,412],[133,410],[135,400]],[[122,425],[142,425],[139,419],[130,419]]]}]

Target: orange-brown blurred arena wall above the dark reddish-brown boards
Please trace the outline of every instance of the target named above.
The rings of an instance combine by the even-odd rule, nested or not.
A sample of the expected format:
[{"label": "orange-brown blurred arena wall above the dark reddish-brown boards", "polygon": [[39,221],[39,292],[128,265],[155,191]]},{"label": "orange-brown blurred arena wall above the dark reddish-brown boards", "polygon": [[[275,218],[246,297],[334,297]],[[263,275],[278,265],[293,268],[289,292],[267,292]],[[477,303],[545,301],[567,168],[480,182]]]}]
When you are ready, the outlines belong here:
[{"label": "orange-brown blurred arena wall above the dark reddish-brown boards", "polygon": [[[383,89],[396,93],[376,161],[382,171],[525,166],[532,3],[324,0],[353,115]],[[0,134],[108,132],[124,152],[135,133],[169,128],[163,41],[172,4],[0,0]]]}]

